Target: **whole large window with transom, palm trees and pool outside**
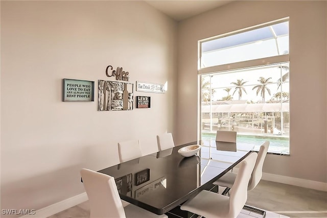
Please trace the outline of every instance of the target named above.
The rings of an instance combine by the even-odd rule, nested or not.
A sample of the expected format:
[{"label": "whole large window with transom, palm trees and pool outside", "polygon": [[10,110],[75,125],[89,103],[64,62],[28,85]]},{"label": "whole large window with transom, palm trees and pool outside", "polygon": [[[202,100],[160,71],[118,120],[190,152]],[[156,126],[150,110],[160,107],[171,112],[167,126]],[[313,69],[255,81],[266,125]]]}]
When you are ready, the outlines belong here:
[{"label": "whole large window with transom, palm trees and pool outside", "polygon": [[238,144],[259,150],[269,140],[268,152],[289,154],[288,40],[284,19],[199,42],[204,146],[216,146],[217,130],[232,130]]}]

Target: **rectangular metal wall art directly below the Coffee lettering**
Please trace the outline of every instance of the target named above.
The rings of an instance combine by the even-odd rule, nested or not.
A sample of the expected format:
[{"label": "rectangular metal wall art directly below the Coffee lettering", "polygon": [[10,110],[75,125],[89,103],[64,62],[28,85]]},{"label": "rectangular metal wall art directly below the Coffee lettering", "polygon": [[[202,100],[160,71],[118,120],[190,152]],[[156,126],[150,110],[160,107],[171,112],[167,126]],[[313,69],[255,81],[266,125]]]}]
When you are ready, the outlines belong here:
[{"label": "rectangular metal wall art directly below the Coffee lettering", "polygon": [[99,80],[98,111],[133,110],[133,84]]}]

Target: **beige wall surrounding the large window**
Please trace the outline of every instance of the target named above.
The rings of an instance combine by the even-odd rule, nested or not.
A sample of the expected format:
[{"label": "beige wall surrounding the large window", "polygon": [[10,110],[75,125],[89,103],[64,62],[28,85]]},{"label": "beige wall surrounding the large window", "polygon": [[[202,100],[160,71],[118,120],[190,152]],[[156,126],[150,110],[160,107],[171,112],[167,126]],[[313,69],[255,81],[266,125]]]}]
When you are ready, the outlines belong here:
[{"label": "beige wall surrounding the large window", "polygon": [[268,155],[264,172],[326,183],[326,3],[239,1],[180,22],[177,143],[197,135],[197,41],[289,16],[291,155]]}]

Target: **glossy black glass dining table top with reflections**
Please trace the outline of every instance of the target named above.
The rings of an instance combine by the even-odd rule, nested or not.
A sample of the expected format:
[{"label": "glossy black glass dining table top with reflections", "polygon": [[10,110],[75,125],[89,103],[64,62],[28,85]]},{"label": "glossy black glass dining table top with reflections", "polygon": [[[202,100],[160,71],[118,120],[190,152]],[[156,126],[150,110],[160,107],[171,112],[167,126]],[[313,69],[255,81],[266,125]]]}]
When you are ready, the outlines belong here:
[{"label": "glossy black glass dining table top with reflections", "polygon": [[[227,143],[227,144],[226,144]],[[203,189],[241,162],[251,151],[236,143],[217,142],[197,155],[182,157],[178,150],[190,144],[143,156],[101,171],[115,178],[121,199],[156,214],[164,214]],[[220,150],[217,150],[220,149]]]}]

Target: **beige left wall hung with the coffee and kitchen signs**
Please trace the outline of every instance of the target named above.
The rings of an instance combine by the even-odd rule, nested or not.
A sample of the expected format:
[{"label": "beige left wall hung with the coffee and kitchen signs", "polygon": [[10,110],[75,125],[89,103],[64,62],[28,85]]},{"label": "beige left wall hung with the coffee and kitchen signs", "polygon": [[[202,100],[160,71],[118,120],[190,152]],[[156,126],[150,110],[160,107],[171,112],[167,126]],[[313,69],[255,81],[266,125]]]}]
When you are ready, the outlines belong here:
[{"label": "beige left wall hung with the coffee and kitchen signs", "polygon": [[[79,170],[119,162],[117,143],[175,133],[177,23],[144,2],[1,1],[1,208],[40,209],[84,192]],[[97,111],[107,65],[164,84],[150,109]],[[62,79],[95,81],[95,102],[62,102]]]}]

